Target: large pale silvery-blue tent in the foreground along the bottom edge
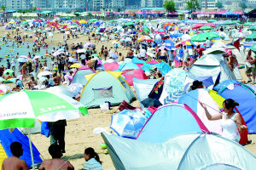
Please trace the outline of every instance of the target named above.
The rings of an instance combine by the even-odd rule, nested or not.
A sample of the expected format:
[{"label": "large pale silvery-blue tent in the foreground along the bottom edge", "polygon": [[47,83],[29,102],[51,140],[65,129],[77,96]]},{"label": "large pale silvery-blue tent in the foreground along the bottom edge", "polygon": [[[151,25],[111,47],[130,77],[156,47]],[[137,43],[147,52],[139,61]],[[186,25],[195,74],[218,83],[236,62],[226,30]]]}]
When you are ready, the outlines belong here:
[{"label": "large pale silvery-blue tent in the foreground along the bottom edge", "polygon": [[106,132],[102,138],[119,170],[255,169],[252,153],[215,133],[188,133],[164,143],[125,139]]}]

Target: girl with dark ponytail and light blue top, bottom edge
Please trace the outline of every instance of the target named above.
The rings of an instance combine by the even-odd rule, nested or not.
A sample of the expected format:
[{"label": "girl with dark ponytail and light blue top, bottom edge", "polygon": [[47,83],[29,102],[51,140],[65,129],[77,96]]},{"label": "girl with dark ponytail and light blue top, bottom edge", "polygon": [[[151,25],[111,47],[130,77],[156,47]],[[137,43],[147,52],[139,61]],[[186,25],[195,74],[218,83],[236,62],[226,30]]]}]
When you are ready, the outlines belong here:
[{"label": "girl with dark ponytail and light blue top, bottom edge", "polygon": [[84,150],[84,160],[86,162],[82,170],[102,170],[102,161],[100,161],[100,157],[93,148],[86,148]]}]

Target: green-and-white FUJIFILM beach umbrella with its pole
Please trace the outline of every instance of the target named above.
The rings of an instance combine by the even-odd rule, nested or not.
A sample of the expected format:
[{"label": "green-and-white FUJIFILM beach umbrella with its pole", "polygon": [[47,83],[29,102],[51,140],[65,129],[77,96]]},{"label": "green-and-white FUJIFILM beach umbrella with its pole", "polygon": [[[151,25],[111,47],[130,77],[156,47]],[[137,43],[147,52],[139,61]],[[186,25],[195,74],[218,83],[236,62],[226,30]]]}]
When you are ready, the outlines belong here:
[{"label": "green-and-white FUJIFILM beach umbrella with its pole", "polygon": [[[79,118],[79,108],[84,107],[66,95],[36,90],[3,95],[0,101],[0,129],[34,127],[35,119],[41,122],[76,119]],[[34,169],[30,131],[28,136]]]}]

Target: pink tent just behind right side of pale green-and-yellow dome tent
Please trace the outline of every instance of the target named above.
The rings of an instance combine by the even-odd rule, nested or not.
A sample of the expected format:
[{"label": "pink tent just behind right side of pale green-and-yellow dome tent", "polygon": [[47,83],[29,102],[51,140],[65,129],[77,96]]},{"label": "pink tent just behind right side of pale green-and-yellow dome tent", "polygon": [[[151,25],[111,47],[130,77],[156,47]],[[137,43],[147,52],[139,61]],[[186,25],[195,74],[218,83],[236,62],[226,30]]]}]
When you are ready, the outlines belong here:
[{"label": "pink tent just behind right side of pale green-and-yellow dome tent", "polygon": [[125,81],[128,82],[129,85],[133,85],[133,77],[139,79],[147,79],[148,77],[145,75],[145,72],[142,69],[130,69],[123,71],[122,75],[125,77]]}]

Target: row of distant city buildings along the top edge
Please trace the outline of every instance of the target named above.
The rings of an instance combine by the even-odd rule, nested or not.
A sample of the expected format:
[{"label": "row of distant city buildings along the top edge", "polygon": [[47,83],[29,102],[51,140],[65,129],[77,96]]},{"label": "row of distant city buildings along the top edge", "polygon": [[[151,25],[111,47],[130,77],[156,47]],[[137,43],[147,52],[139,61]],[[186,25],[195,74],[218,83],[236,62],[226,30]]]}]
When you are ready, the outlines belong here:
[{"label": "row of distant city buildings along the top edge", "polygon": [[[123,11],[126,8],[162,8],[165,0],[0,0],[0,5],[8,9],[56,8],[82,11]],[[186,10],[188,0],[173,0],[177,10]],[[239,3],[245,2],[247,8],[256,8],[256,0],[199,0],[201,9],[217,10],[221,2],[224,9],[241,9]]]}]

